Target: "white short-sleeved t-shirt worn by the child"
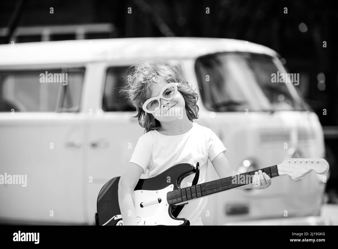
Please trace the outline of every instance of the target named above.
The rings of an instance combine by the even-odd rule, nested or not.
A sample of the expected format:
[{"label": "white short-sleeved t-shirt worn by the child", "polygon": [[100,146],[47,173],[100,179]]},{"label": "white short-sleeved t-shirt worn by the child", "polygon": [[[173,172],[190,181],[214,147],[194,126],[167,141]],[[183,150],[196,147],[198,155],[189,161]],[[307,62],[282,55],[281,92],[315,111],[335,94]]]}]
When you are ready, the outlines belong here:
[{"label": "white short-sleeved t-shirt worn by the child", "polygon": [[[226,152],[221,140],[209,128],[193,122],[193,127],[181,135],[163,135],[156,130],[142,135],[129,162],[138,164],[143,168],[143,174],[148,169],[148,178],[157,176],[168,168],[180,164],[190,163],[196,167],[199,162],[199,179],[197,184],[203,183],[207,178],[208,159],[210,161]],[[192,185],[195,174],[191,174],[182,180],[180,187]],[[172,180],[176,181],[175,180]],[[206,208],[208,197],[190,201],[186,204],[177,218],[186,218],[190,225],[203,225],[201,213]]]}]

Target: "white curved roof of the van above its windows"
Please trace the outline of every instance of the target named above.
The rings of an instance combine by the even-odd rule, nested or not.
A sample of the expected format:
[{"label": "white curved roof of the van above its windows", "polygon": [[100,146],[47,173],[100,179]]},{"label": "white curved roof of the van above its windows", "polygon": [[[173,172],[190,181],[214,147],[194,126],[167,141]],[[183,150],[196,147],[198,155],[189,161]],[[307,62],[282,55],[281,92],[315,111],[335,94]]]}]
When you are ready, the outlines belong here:
[{"label": "white curved roof of the van above its windows", "polygon": [[68,40],[0,45],[0,65],[182,59],[217,52],[254,52],[275,56],[263,45],[243,40],[198,37],[144,37]]}]

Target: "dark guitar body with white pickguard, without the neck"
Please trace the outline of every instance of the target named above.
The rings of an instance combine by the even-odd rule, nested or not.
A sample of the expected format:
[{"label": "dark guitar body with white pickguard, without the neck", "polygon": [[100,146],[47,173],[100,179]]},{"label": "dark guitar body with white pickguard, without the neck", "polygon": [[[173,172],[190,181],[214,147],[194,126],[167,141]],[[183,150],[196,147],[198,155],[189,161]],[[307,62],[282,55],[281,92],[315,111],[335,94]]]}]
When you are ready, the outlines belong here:
[{"label": "dark guitar body with white pickguard, without the neck", "polygon": [[[193,165],[181,163],[155,177],[140,179],[134,189],[138,225],[190,225],[187,219],[174,217],[177,206],[168,204],[167,193],[179,189],[180,182],[194,173]],[[101,188],[97,198],[96,225],[123,225],[118,200],[119,180],[120,177],[112,178]]]}]

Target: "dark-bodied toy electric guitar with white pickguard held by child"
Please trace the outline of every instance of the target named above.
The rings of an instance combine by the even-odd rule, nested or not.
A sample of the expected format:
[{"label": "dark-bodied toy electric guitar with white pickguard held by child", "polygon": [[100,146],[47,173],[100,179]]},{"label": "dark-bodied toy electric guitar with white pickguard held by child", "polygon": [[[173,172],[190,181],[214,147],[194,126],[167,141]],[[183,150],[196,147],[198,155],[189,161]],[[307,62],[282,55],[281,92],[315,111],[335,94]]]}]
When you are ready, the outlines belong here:
[{"label": "dark-bodied toy electric guitar with white pickguard held by child", "polygon": [[[292,180],[296,181],[311,171],[317,174],[327,173],[329,164],[322,158],[289,158],[281,164],[261,170],[270,178],[289,175]],[[253,178],[256,171],[236,175],[236,178]],[[194,173],[192,186],[180,188],[181,181]],[[198,177],[199,163],[196,167],[192,164],[181,163],[170,167],[158,176],[140,179],[134,189],[138,225],[190,225],[187,219],[176,218],[179,211],[189,201],[250,184],[248,181],[244,184],[234,181],[234,176],[196,184]],[[174,179],[174,181],[168,183],[167,179]],[[118,202],[119,180],[120,177],[114,177],[101,188],[97,198],[96,225],[123,225]]]}]

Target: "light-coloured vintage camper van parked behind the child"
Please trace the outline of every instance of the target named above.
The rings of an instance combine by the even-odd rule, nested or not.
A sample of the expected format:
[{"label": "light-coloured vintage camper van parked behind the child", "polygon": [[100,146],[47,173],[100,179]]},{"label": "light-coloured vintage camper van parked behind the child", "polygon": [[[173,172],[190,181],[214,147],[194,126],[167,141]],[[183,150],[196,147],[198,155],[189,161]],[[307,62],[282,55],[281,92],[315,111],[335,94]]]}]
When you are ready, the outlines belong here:
[{"label": "light-coloured vintage camper van parked behind the child", "polygon": [[[26,176],[26,186],[0,185],[1,224],[95,224],[100,189],[122,174],[144,134],[120,91],[141,58],[165,59],[196,88],[194,122],[216,133],[234,170],[324,157],[318,117],[292,81],[272,83],[288,72],[265,46],[186,37],[0,45],[0,174]],[[210,161],[207,176],[218,179]],[[323,182],[311,172],[224,191],[208,198],[202,222],[323,224]]]}]

